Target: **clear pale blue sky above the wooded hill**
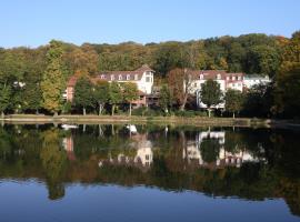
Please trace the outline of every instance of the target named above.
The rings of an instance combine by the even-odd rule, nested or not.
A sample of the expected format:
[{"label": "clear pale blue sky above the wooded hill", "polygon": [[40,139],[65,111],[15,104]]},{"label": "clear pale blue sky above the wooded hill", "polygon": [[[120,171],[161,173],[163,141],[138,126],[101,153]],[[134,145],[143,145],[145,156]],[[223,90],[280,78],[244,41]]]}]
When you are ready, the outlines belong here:
[{"label": "clear pale blue sky above the wooded hill", "polygon": [[0,47],[187,41],[251,32],[290,37],[300,0],[7,0]]}]

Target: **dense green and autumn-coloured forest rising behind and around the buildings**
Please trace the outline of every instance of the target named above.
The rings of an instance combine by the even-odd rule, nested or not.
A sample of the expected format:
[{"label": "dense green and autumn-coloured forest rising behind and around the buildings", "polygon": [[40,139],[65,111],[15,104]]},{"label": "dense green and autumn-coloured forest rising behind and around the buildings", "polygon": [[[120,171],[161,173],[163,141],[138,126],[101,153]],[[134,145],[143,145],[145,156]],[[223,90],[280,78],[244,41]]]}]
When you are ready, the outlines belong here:
[{"label": "dense green and autumn-coloured forest rising behind and around the buildings", "polygon": [[159,85],[167,82],[168,73],[176,68],[268,74],[272,85],[259,94],[253,92],[251,109],[263,104],[254,115],[294,118],[300,113],[300,32],[291,38],[251,33],[188,42],[83,43],[80,47],[52,40],[36,49],[0,48],[0,111],[60,112],[61,98],[49,108],[46,103],[53,101],[44,102],[44,97],[53,92],[59,97],[70,75],[134,70],[144,63],[156,70]]}]

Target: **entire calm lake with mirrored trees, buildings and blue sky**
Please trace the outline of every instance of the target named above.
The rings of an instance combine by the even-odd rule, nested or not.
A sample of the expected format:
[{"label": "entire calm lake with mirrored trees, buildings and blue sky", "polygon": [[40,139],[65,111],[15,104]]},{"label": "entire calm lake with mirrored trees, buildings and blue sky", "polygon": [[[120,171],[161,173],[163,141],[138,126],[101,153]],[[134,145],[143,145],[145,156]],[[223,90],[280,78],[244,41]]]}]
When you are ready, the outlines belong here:
[{"label": "entire calm lake with mirrored trees, buildings and blue sky", "polygon": [[290,130],[0,127],[0,221],[300,221],[299,144]]}]

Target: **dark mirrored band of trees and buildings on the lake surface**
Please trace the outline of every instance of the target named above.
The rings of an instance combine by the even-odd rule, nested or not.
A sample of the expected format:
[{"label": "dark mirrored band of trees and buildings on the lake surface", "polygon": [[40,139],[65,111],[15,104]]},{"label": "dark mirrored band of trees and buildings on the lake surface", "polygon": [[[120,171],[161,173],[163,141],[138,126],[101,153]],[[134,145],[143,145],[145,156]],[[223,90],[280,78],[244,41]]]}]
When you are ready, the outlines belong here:
[{"label": "dark mirrored band of trees and buildings on the lake surface", "polygon": [[170,125],[4,125],[0,178],[66,184],[138,184],[261,201],[282,198],[300,215],[299,132]]}]

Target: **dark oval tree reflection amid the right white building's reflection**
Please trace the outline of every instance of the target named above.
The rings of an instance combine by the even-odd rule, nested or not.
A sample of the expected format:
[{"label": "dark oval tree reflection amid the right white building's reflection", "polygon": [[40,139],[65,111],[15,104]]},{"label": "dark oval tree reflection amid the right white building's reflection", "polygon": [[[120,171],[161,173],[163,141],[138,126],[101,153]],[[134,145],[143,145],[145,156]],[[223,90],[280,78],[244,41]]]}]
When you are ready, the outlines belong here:
[{"label": "dark oval tree reflection amid the right white building's reflection", "polygon": [[200,144],[200,151],[204,162],[216,162],[220,152],[219,140],[212,138],[203,139]]}]

